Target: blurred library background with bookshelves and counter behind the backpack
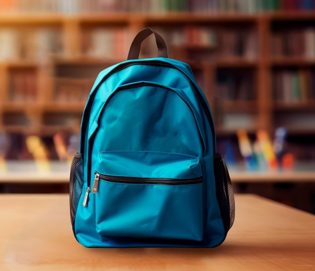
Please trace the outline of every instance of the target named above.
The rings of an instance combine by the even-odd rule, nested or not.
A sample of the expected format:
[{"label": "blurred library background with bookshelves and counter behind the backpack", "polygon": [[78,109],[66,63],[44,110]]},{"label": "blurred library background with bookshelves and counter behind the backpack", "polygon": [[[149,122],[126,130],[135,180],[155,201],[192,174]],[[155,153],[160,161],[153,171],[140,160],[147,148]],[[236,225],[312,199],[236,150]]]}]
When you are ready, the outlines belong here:
[{"label": "blurred library background with bookshelves and counter behind the backpack", "polygon": [[234,190],[315,213],[315,0],[1,0],[0,192],[68,191],[93,82],[145,27],[191,65]]}]

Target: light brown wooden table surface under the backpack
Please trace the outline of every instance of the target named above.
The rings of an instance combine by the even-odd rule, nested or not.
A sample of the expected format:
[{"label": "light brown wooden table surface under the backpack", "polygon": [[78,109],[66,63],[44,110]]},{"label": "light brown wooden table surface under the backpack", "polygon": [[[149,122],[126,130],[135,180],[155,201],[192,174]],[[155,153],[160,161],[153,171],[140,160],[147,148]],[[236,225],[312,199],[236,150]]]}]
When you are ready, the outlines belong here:
[{"label": "light brown wooden table surface under the backpack", "polygon": [[0,195],[0,270],[315,270],[315,216],[235,195],[222,245],[85,248],[72,234],[67,195]]}]

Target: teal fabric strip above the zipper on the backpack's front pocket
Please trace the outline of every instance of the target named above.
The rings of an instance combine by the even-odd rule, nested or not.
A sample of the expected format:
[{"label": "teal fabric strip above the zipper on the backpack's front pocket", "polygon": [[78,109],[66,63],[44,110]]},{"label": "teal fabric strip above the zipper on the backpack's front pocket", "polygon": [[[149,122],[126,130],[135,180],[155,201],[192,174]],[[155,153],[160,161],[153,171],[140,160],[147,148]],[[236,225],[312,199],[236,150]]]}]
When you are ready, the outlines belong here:
[{"label": "teal fabric strip above the zipper on the backpack's front pocket", "polygon": [[191,155],[151,151],[100,152],[96,171],[103,175],[192,179],[202,177],[200,159]]}]

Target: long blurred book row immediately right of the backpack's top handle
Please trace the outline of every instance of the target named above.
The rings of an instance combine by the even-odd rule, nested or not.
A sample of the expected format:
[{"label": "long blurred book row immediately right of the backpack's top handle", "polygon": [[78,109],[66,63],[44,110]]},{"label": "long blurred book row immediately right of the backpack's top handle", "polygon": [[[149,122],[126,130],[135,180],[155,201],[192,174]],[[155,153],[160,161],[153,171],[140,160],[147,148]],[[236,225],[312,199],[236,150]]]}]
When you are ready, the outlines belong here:
[{"label": "long blurred book row immediately right of the backpack's top handle", "polygon": [[[252,29],[189,26],[174,29],[163,28],[156,31],[165,37],[167,44],[170,44],[175,49],[174,51],[181,46],[188,45],[190,51],[193,51],[195,46],[195,51],[205,53],[208,52],[202,49],[208,47],[209,51],[213,51],[213,57],[239,56],[255,59],[257,56],[258,36]],[[151,48],[155,48],[155,46],[151,44]],[[181,58],[181,55],[176,55],[176,58]]]}]

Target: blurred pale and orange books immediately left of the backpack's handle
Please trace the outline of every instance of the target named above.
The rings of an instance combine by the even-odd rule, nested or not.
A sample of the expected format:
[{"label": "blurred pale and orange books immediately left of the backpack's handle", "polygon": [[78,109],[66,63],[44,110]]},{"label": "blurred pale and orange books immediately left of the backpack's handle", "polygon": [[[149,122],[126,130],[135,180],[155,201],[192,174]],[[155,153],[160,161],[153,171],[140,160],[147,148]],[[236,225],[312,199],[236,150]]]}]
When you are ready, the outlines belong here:
[{"label": "blurred pale and orange books immediately left of the backpack's handle", "polygon": [[82,32],[82,52],[102,59],[126,59],[131,41],[124,27],[88,28]]}]

